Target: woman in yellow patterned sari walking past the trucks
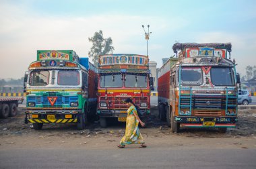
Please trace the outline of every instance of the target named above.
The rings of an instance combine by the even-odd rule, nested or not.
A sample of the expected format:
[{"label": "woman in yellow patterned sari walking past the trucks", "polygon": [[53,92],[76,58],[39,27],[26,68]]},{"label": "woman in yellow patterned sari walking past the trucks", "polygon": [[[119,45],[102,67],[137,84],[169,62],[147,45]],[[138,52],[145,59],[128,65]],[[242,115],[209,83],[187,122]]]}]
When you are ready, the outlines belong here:
[{"label": "woman in yellow patterned sari walking past the trucks", "polygon": [[125,128],[125,135],[120,141],[119,148],[125,148],[127,144],[141,144],[139,148],[146,148],[146,144],[143,141],[143,137],[139,132],[139,123],[142,127],[145,126],[145,123],[139,119],[137,114],[137,109],[133,101],[128,98],[125,100],[129,109],[127,110],[127,119],[126,119],[126,128]]}]

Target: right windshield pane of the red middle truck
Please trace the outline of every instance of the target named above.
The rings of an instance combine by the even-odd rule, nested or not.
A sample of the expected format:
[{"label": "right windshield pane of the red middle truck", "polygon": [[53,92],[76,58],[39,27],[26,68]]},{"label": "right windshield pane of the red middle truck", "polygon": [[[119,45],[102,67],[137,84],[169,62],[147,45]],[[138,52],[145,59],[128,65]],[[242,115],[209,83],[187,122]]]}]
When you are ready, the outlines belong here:
[{"label": "right windshield pane of the red middle truck", "polygon": [[126,74],[125,87],[147,87],[147,76]]}]

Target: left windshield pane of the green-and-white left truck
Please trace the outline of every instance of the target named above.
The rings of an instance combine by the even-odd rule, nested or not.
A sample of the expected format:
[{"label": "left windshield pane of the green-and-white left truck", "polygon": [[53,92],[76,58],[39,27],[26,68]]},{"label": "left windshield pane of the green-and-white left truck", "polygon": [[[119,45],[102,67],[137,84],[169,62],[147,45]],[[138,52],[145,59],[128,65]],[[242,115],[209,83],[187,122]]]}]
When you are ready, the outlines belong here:
[{"label": "left windshield pane of the green-and-white left truck", "polygon": [[32,71],[30,73],[31,86],[46,86],[49,84],[49,71]]}]

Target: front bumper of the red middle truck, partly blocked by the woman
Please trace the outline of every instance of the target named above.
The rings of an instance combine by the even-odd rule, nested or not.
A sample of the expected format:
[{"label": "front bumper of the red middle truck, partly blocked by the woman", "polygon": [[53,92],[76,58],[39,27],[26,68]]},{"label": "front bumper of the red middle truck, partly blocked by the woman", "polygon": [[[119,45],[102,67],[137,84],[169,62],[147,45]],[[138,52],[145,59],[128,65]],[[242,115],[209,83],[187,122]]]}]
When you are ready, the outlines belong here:
[{"label": "front bumper of the red middle truck, partly blocked by the woman", "polygon": [[[139,117],[147,117],[150,114],[150,109],[140,109]],[[97,115],[100,117],[127,117],[127,110],[97,110]]]}]

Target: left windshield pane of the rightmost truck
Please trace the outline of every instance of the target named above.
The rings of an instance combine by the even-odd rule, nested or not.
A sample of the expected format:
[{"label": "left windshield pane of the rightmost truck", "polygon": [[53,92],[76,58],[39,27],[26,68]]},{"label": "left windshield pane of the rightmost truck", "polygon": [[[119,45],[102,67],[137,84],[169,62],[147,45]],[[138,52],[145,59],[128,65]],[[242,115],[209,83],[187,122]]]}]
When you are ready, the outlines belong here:
[{"label": "left windshield pane of the rightmost truck", "polygon": [[183,85],[201,85],[203,84],[203,74],[201,68],[182,67],[181,84]]}]

